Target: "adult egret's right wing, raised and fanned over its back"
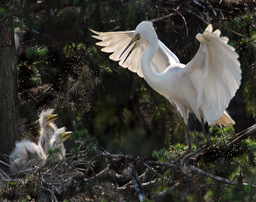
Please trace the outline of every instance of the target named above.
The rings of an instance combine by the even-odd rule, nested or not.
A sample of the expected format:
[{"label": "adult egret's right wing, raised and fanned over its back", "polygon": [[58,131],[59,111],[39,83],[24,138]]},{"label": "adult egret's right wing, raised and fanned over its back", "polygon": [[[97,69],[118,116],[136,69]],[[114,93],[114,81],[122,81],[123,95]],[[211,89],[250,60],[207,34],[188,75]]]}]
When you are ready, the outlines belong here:
[{"label": "adult egret's right wing, raised and fanned over its back", "polygon": [[202,107],[209,123],[223,114],[242,78],[239,55],[227,44],[228,38],[220,34],[218,29],[212,33],[212,25],[208,25],[202,35],[198,34],[200,48],[184,68],[197,90],[197,107]]}]

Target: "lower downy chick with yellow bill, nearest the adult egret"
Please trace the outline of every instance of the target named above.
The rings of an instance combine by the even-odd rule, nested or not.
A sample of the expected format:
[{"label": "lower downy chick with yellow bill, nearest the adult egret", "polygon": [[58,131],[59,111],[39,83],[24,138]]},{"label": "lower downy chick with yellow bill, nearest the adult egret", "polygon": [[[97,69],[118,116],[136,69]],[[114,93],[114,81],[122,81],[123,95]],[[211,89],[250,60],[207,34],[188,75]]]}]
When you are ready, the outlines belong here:
[{"label": "lower downy chick with yellow bill, nearest the adult egret", "polygon": [[61,160],[66,156],[66,149],[64,142],[69,139],[72,132],[65,132],[65,127],[59,128],[55,131],[53,137],[49,141],[50,149],[58,148],[59,152],[54,154],[53,160]]}]

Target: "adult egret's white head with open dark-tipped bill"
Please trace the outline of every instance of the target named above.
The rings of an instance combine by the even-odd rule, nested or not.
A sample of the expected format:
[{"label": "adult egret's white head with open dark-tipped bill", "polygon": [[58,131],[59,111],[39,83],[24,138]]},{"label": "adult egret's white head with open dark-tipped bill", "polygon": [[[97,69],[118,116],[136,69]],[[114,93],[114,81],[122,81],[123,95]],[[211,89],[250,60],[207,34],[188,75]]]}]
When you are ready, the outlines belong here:
[{"label": "adult egret's white head with open dark-tipped bill", "polygon": [[[156,31],[153,27],[153,24],[148,21],[141,22],[135,29],[134,36],[131,40],[131,42],[126,46],[120,57],[125,53],[125,51],[133,45],[132,49],[127,54],[124,61],[129,57],[129,55],[132,53],[132,51],[138,47],[140,44],[144,42],[158,42]],[[120,59],[119,57],[119,59]],[[124,62],[123,61],[123,62]]]}]

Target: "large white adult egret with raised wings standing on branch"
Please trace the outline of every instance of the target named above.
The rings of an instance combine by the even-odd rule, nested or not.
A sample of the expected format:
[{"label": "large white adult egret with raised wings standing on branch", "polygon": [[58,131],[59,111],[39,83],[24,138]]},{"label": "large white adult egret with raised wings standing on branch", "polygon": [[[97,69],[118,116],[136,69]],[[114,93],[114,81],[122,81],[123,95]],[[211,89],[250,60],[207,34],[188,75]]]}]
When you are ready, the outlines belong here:
[{"label": "large white adult egret with raised wings standing on branch", "polygon": [[[194,113],[199,122],[209,124],[235,124],[225,111],[241,84],[239,55],[228,45],[227,37],[220,37],[220,30],[212,32],[208,25],[196,38],[201,43],[195,57],[188,64],[179,59],[158,40],[151,22],[141,22],[135,31],[96,32],[92,36],[105,46],[103,52],[111,53],[110,59],[144,77],[151,88],[174,104],[184,119],[188,131],[188,114]],[[203,127],[209,144],[209,138]]]}]

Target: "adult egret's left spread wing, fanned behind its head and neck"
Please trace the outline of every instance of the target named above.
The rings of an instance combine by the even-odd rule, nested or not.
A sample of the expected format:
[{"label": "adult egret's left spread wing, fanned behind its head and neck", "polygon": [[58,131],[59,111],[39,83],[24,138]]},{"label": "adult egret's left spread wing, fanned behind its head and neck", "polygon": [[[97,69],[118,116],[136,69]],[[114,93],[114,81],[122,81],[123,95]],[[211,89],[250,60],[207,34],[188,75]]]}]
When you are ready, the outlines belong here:
[{"label": "adult egret's left spread wing, fanned behind its head and neck", "polygon": [[[91,30],[91,29],[90,29]],[[101,42],[97,42],[96,45],[105,46],[101,51],[106,53],[112,53],[109,56],[110,59],[114,61],[119,61],[119,65],[128,68],[132,72],[136,72],[140,77],[143,77],[140,61],[142,54],[148,49],[148,44],[143,43],[138,46],[130,56],[124,61],[127,54],[130,52],[133,45],[122,55],[119,59],[121,53],[132,40],[134,31],[126,32],[96,32],[91,30],[97,36],[92,36]],[[156,73],[162,73],[169,65],[174,63],[179,63],[179,59],[174,55],[160,40],[158,40],[159,48],[156,56],[153,58],[151,63],[151,68]]]}]

